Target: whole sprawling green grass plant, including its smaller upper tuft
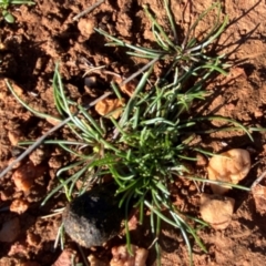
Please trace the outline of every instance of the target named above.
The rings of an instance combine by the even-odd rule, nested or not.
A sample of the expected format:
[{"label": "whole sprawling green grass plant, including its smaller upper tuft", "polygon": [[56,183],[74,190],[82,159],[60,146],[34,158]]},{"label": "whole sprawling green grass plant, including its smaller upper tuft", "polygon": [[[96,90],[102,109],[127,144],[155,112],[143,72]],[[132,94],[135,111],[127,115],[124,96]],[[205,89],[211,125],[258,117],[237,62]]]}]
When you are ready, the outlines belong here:
[{"label": "whole sprawling green grass plant, including its smaller upper tuft", "polygon": [[[156,49],[132,45],[101,29],[95,29],[112,41],[109,45],[124,47],[130,49],[127,52],[130,55],[150,60],[141,71],[123,81],[125,84],[135,76],[141,76],[133,95],[122,108],[122,115],[117,121],[112,117],[111,113],[102,117],[95,116],[90,110],[88,111],[86,106],[66,98],[59,68],[55,68],[54,102],[61,114],[62,124],[66,124],[72,130],[76,141],[44,141],[47,144],[60,145],[66,153],[72,154],[73,162],[58,171],[57,176],[60,184],[49,193],[43,204],[62,188],[66,198],[72,201],[73,194],[76,192],[78,180],[83,182],[78,192],[82,194],[94,182],[101,183],[102,177],[111,175],[117,187],[116,195],[121,197],[120,206],[127,206],[125,221],[129,219],[130,205],[133,202],[134,206],[140,208],[140,223],[143,222],[146,209],[150,211],[151,231],[155,237],[160,237],[162,221],[178,228],[187,245],[192,263],[192,238],[206,252],[196,234],[197,229],[206,224],[182,213],[172,203],[170,185],[176,178],[206,182],[206,180],[191,174],[187,162],[196,161],[191,155],[194,152],[207,155],[209,153],[192,145],[193,134],[187,132],[196,132],[197,125],[203,121],[221,120],[232,125],[229,130],[243,130],[250,139],[252,136],[236,121],[221,116],[197,117],[190,114],[191,106],[195,101],[205,100],[204,84],[209,81],[212,74],[225,74],[224,69],[227,66],[222,62],[223,55],[208,55],[208,45],[217,39],[227,23],[227,17],[221,21],[219,3],[214,3],[198,17],[181,43],[177,40],[168,1],[165,0],[164,3],[170,24],[167,31],[157,23],[149,8],[144,7],[152,22],[152,31],[157,43]],[[194,30],[198,22],[214,11],[216,11],[217,19],[213,28],[201,39],[196,38]],[[165,71],[162,76],[155,76],[153,66],[160,60],[165,62]],[[151,82],[152,80],[153,82]],[[113,96],[121,99],[121,84],[112,83],[111,85]],[[16,95],[10,84],[8,86],[30,111],[41,117],[49,116],[32,110]],[[76,112],[73,113],[72,110],[76,110]],[[63,176],[70,170],[74,171],[74,174],[64,178]],[[131,242],[126,222],[125,228],[130,249]],[[160,256],[157,242],[155,247]]]}]

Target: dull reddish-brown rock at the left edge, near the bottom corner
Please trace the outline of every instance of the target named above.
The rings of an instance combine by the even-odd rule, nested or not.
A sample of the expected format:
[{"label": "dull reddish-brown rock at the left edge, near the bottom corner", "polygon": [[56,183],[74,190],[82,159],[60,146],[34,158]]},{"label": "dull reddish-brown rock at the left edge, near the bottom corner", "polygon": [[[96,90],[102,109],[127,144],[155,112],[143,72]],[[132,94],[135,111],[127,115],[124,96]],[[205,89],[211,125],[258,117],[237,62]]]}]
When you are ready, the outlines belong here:
[{"label": "dull reddish-brown rock at the left edge, near the bottom corner", "polygon": [[19,218],[14,217],[3,223],[2,228],[0,231],[0,242],[11,243],[16,241],[19,234],[20,234]]}]

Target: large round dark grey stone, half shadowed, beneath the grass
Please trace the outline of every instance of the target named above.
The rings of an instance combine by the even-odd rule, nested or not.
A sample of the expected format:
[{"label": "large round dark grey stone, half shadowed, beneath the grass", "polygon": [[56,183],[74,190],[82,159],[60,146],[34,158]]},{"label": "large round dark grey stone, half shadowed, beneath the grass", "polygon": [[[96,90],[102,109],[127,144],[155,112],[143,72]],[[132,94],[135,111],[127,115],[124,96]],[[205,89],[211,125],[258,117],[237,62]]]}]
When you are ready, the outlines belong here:
[{"label": "large round dark grey stone, half shadowed, beneath the grass", "polygon": [[119,234],[124,214],[113,190],[95,188],[74,198],[65,208],[64,229],[84,247],[102,246]]}]

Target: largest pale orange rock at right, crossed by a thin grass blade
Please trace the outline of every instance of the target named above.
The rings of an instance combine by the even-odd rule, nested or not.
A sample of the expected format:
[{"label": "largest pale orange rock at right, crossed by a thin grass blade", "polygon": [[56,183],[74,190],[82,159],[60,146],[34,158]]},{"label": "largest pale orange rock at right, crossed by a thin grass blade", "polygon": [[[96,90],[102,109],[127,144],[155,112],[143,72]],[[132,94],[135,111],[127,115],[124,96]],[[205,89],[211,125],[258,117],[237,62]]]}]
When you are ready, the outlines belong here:
[{"label": "largest pale orange rock at right, crossed by a thin grass blade", "polygon": [[[227,152],[215,155],[209,160],[207,172],[208,178],[213,181],[238,184],[250,170],[250,156],[248,151],[232,149]],[[231,187],[211,184],[215,194],[223,195]]]}]

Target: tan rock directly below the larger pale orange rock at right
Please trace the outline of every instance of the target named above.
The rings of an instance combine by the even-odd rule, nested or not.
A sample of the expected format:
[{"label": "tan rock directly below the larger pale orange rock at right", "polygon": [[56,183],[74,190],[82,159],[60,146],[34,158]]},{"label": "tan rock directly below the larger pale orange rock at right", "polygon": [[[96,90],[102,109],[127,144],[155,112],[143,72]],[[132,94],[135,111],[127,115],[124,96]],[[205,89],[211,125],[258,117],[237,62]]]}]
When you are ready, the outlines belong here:
[{"label": "tan rock directly below the larger pale orange rock at right", "polygon": [[202,194],[201,215],[215,229],[225,229],[234,212],[235,200],[222,195]]}]

